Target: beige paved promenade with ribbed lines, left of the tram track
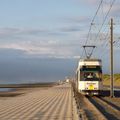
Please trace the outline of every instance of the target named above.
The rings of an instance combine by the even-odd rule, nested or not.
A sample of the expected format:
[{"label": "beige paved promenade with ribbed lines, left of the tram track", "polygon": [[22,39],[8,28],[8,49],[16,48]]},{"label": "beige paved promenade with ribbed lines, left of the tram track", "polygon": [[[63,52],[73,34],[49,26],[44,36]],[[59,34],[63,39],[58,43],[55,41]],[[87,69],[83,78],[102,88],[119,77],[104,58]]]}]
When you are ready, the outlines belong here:
[{"label": "beige paved promenade with ribbed lines, left of the tram track", "polygon": [[72,120],[70,85],[0,98],[0,120]]}]

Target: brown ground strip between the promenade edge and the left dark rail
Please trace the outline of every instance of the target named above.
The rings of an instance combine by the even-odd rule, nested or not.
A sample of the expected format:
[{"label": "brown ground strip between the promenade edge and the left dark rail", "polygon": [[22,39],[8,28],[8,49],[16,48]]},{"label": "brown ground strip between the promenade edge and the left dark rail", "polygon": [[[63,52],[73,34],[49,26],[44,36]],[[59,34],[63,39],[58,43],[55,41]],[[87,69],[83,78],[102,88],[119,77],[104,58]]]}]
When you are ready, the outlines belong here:
[{"label": "brown ground strip between the promenade edge and the left dark rail", "polygon": [[75,99],[80,120],[107,120],[106,116],[85,95],[76,92]]}]

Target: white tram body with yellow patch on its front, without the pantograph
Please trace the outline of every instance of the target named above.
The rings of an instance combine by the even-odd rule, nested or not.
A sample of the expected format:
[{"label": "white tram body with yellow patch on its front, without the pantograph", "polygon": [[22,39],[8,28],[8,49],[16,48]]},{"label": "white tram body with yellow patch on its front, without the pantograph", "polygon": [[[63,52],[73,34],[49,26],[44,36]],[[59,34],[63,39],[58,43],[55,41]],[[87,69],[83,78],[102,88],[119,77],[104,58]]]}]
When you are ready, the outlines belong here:
[{"label": "white tram body with yellow patch on its front, without the pantograph", "polygon": [[85,95],[99,95],[102,90],[102,62],[99,59],[83,59],[78,63],[75,86]]}]

